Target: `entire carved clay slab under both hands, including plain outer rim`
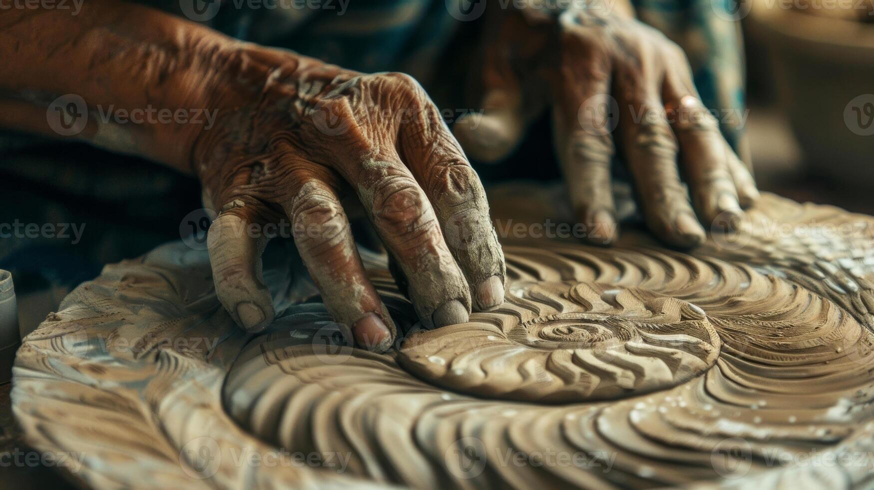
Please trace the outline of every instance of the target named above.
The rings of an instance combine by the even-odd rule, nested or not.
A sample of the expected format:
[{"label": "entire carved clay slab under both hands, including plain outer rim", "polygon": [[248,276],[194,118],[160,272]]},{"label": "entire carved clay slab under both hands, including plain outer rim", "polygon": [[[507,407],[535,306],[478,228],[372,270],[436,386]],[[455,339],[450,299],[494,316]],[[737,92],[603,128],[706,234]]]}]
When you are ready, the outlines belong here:
[{"label": "entire carved clay slab under both hands, including plain outer rim", "polygon": [[[15,413],[97,487],[869,486],[874,219],[772,195],[750,217],[692,253],[504,240],[505,303],[434,331],[363,253],[387,354],[351,347],[281,249],[276,320],[243,332],[171,243],[24,340]],[[239,464],[280,449],[315,462]]]}]

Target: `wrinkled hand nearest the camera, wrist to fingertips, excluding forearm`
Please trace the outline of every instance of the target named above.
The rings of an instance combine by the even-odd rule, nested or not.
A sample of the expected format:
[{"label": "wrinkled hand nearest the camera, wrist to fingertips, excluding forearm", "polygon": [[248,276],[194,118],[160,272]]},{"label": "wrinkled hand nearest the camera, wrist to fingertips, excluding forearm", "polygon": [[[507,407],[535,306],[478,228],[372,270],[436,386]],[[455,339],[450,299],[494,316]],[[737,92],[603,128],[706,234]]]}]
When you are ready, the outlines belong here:
[{"label": "wrinkled hand nearest the camera, wrist to fingertips, excluding forearm", "polygon": [[254,45],[225,57],[217,73],[232,80],[212,82],[217,123],[198,135],[193,167],[218,213],[210,228],[218,297],[240,325],[257,331],[273,319],[260,277],[267,239],[257,230],[286,220],[335,320],[360,346],[391,345],[396,329],[343,208],[356,199],[406,276],[423,325],[464,322],[472,307],[503,302],[503,253],[482,185],[416,81]]}]

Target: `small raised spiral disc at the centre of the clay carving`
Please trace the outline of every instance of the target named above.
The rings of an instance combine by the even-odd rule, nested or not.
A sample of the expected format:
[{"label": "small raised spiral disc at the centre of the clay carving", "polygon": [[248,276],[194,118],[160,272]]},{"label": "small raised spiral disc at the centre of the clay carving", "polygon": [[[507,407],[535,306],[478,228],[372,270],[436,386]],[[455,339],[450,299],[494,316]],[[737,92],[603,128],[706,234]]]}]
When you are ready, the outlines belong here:
[{"label": "small raised spiral disc at the centre of the clay carving", "polygon": [[399,364],[455,391],[582,402],[669,388],[711,367],[719,336],[704,311],[599,283],[510,283],[503,307],[420,332]]}]

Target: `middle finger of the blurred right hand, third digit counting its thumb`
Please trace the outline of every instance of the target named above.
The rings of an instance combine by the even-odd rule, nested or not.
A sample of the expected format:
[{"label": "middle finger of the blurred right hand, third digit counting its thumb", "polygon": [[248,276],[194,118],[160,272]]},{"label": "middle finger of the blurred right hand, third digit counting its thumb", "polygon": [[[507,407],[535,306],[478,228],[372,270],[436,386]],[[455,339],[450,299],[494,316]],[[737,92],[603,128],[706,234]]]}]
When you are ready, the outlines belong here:
[{"label": "middle finger of the blurred right hand, third digit counting its thumb", "polygon": [[680,181],[676,137],[661,100],[637,98],[635,91],[620,93],[619,103],[625,109],[620,119],[622,145],[649,228],[669,244],[700,245],[706,235]]}]

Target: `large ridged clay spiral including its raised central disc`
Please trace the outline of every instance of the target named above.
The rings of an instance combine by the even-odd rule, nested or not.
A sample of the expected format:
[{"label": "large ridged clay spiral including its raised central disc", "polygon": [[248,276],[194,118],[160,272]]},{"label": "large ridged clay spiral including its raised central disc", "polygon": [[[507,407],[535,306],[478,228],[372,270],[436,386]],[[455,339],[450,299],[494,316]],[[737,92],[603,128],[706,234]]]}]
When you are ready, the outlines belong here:
[{"label": "large ridged clay spiral including its raised central disc", "polygon": [[[255,353],[225,385],[232,416],[281,447],[350,453],[370,479],[463,486],[477,473],[486,486],[588,487],[731,477],[738,470],[714,460],[738,449],[726,444],[741,444],[739,467],[755,474],[871,415],[871,392],[859,391],[871,334],[797,284],[658,250],[506,254],[507,304],[413,332],[393,359],[349,349],[325,362],[309,339],[281,334],[247,346]],[[538,453],[573,455],[585,471],[506,459]]]}]

